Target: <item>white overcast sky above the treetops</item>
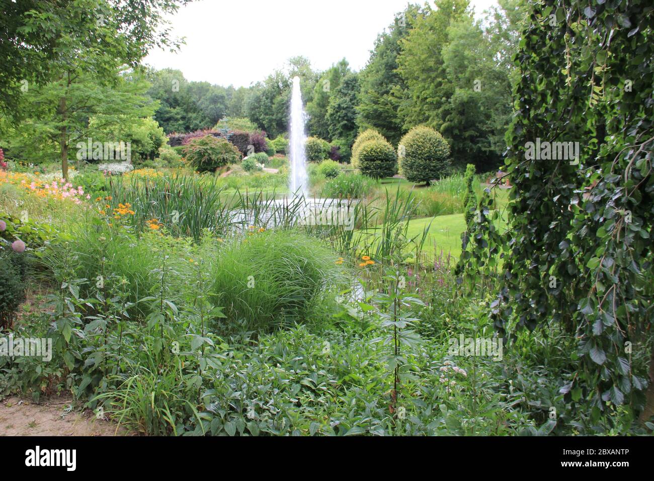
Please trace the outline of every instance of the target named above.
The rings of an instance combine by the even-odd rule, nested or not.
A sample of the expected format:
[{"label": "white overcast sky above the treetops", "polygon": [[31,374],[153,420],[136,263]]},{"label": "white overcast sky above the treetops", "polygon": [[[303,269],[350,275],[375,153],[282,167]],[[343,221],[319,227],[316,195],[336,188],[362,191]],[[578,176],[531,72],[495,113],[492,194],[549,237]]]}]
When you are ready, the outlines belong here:
[{"label": "white overcast sky above the treetops", "polygon": [[[195,0],[171,18],[173,36],[186,37],[175,54],[152,50],[145,63],[179,69],[188,80],[235,87],[263,80],[292,56],[324,70],[347,58],[368,62],[377,34],[407,0]],[[422,3],[415,0],[411,3]],[[430,5],[434,5],[432,1]],[[476,16],[496,0],[471,0]]]}]

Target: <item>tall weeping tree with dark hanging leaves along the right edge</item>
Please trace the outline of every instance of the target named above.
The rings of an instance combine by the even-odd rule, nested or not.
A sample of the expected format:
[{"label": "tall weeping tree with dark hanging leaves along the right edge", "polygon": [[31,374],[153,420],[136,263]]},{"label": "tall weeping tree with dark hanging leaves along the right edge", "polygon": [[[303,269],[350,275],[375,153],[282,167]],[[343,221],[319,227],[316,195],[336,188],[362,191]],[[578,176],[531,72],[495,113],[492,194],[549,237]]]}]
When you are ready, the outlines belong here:
[{"label": "tall weeping tree with dark hanging leaves along the right edge", "polygon": [[587,432],[617,409],[646,421],[654,415],[654,5],[545,0],[530,3],[529,20],[514,57],[509,229],[478,230],[461,265],[492,276],[479,252],[504,257],[489,306],[500,332],[559,323],[577,340],[560,387],[572,412],[559,419]]}]

